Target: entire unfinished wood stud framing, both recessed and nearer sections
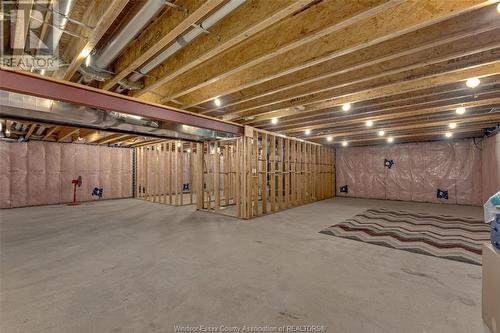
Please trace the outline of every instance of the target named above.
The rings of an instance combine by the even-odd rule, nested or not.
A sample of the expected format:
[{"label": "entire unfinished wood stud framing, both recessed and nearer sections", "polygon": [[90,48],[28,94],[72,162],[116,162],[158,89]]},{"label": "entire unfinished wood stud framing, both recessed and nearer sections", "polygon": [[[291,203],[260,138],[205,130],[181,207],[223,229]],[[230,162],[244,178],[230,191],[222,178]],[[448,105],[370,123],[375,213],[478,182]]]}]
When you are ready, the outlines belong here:
[{"label": "entire unfinished wood stud framing, both recessed and nearer sections", "polygon": [[250,219],[335,193],[333,148],[250,126],[243,137],[152,143],[135,153],[136,197],[151,202],[196,203],[199,210]]}]

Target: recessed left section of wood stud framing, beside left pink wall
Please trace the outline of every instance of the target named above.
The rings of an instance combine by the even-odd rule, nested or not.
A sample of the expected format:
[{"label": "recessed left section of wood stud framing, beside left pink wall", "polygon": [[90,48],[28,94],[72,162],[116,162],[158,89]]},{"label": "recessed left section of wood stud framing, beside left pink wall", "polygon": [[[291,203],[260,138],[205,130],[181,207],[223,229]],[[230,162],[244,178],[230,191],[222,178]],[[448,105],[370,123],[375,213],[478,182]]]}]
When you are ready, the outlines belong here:
[{"label": "recessed left section of wood stud framing, beside left pink wall", "polygon": [[[200,144],[166,141],[135,149],[135,197],[173,206],[196,202],[196,154]],[[189,189],[184,190],[187,182]]]}]

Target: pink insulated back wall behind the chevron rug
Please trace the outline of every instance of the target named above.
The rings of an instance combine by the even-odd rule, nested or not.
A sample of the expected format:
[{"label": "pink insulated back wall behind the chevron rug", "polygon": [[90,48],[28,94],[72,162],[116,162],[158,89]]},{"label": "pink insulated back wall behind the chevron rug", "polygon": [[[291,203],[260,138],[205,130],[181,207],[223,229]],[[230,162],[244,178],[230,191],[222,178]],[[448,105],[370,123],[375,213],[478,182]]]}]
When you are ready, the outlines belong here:
[{"label": "pink insulated back wall behind the chevron rug", "polygon": [[[481,205],[480,140],[420,142],[339,148],[338,196]],[[393,160],[389,169],[384,160]],[[497,164],[498,165],[498,164]],[[348,193],[340,192],[347,185]],[[437,190],[448,191],[438,199]]]}]

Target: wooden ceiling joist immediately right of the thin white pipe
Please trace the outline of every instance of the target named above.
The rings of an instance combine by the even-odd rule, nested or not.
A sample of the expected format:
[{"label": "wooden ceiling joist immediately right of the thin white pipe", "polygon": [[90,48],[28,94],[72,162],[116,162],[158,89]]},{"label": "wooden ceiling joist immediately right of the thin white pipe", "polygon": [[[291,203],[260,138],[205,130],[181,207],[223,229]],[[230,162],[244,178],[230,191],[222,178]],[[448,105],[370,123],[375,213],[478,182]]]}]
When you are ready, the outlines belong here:
[{"label": "wooden ceiling joist immediately right of the thin white pipe", "polygon": [[143,96],[182,73],[267,29],[272,24],[303,8],[311,1],[246,1],[225,17],[220,24],[211,28],[219,36],[223,36],[222,40],[219,41],[210,35],[199,36],[195,43],[186,45],[182,50],[165,60],[161,66],[152,70],[144,79],[144,89],[133,92],[132,95],[136,97]]}]

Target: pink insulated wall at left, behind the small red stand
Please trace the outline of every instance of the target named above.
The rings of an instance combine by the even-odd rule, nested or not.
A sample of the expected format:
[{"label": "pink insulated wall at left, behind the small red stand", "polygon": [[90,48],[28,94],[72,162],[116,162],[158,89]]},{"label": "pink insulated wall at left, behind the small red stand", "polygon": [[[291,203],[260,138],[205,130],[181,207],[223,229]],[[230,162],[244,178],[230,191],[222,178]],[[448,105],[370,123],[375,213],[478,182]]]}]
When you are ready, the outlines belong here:
[{"label": "pink insulated wall at left, behind the small red stand", "polygon": [[0,208],[67,203],[82,176],[77,201],[132,196],[132,149],[29,141],[0,141]]}]

